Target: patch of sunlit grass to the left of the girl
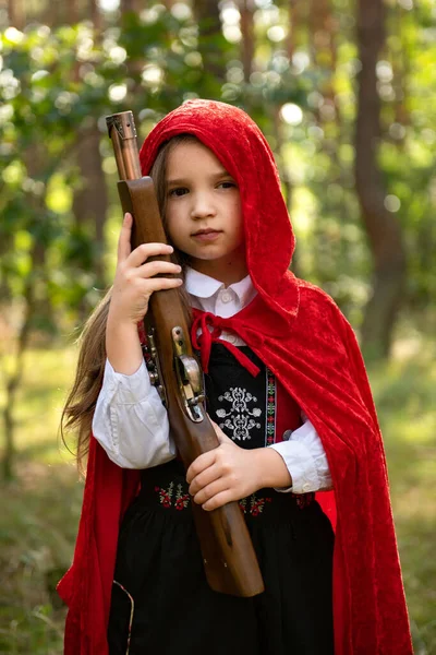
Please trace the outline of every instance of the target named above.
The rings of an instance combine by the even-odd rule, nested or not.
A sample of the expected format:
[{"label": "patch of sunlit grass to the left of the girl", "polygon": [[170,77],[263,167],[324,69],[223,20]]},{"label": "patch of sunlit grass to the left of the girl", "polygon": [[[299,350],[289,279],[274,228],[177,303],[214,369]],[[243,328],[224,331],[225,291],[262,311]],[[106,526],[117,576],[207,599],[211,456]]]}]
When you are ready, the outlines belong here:
[{"label": "patch of sunlit grass to the left of the girl", "polygon": [[1,489],[0,653],[62,653],[64,608],[55,587],[72,558],[82,484],[58,426],[74,366],[73,349],[26,357],[15,413],[16,480]]}]

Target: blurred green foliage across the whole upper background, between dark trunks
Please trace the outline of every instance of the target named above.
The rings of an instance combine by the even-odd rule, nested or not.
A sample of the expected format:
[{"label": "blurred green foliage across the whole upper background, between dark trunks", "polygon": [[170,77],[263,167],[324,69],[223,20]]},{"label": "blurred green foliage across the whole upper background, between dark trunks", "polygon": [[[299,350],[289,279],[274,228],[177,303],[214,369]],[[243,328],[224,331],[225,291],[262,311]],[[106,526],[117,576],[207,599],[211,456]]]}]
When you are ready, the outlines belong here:
[{"label": "blurred green foliage across the whole upper background, between dark trunks", "polygon": [[[287,7],[258,3],[249,81],[244,80],[241,44],[232,27],[234,15],[222,13],[222,33],[211,31],[205,36],[208,26],[203,25],[199,39],[190,9],[181,8],[167,11],[152,3],[142,12],[123,14],[120,25],[114,22],[117,14],[107,12],[101,34],[89,23],[55,31],[33,23],[24,33],[14,28],[3,32],[3,296],[10,299],[22,293],[34,267],[33,245],[41,240],[49,262],[43,265],[48,302],[61,309],[63,294],[65,308],[82,311],[89,286],[101,283],[97,281],[101,253],[93,247],[92,226],[77,227],[72,214],[72,192],[82,183],[74,158],[77,134],[98,121],[105,170],[109,170],[111,153],[101,117],[130,107],[144,135],[183,100],[204,96],[238,104],[261,124],[292,188],[289,203],[299,237],[298,273],[323,285],[359,323],[370,293],[371,258],[353,188],[359,72],[353,8],[343,0],[332,5],[338,26],[334,69],[332,50],[311,45],[308,22],[299,24],[290,59]],[[436,291],[432,265],[436,245],[432,15],[429,3],[414,12],[405,4],[391,3],[387,49],[377,69],[386,202],[403,227],[409,255],[407,300],[415,308],[425,307]],[[289,105],[303,110],[301,120],[286,119],[282,108]],[[108,174],[108,183],[111,203],[118,206],[113,174]],[[314,199],[311,209],[304,201],[307,198]],[[110,210],[110,215],[114,211]],[[16,231],[26,231],[31,238],[22,250],[13,251]]]}]

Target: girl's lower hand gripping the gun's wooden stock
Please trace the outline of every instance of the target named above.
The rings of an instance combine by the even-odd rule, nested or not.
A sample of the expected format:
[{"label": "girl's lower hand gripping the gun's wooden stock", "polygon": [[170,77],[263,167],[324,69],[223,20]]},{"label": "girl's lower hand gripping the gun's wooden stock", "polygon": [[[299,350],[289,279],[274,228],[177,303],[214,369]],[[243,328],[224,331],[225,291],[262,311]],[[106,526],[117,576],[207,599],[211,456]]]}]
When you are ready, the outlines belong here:
[{"label": "girl's lower hand gripping the gun's wooden stock", "polygon": [[216,510],[261,489],[264,484],[259,453],[267,450],[240,448],[211,422],[220,445],[199,455],[186,473],[190,493],[204,510]]}]

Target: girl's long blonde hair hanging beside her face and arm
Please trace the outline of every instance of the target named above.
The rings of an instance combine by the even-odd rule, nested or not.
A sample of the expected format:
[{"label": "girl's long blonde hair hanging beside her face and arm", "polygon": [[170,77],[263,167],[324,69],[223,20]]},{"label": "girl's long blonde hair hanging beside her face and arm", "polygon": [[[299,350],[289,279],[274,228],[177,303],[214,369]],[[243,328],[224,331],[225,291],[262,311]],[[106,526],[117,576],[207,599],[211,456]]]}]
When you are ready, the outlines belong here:
[{"label": "girl's long blonde hair hanging beside her face and arm", "polygon": [[[166,199],[167,199],[167,162],[168,155],[174,146],[186,141],[197,141],[192,134],[179,134],[173,136],[159,150],[150,177],[155,182],[156,196],[166,224]],[[182,267],[186,264],[186,255],[174,251],[174,261]],[[61,436],[66,444],[66,431],[77,433],[77,445],[75,455],[77,466],[83,472],[84,462],[89,449],[90,429],[97,397],[101,389],[106,364],[106,323],[108,319],[109,305],[112,287],[97,305],[78,338],[80,353],[73,388],[66,398],[61,416]],[[189,311],[189,299],[183,287],[180,289],[183,306]]]}]

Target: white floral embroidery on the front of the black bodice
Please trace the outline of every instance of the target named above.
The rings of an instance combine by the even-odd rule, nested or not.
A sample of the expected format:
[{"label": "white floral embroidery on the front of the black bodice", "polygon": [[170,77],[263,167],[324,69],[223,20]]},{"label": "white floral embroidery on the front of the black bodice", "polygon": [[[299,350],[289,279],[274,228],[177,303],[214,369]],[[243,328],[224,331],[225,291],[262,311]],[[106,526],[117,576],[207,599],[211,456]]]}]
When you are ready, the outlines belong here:
[{"label": "white floral embroidery on the front of the black bodice", "polygon": [[246,389],[231,386],[223,395],[218,396],[218,400],[231,403],[229,412],[222,407],[216,410],[216,415],[226,419],[219,424],[219,427],[227,428],[232,433],[233,441],[251,439],[250,431],[253,428],[261,428],[261,424],[255,419],[261,416],[262,409],[259,407],[249,408],[249,403],[257,403],[257,398]]}]

